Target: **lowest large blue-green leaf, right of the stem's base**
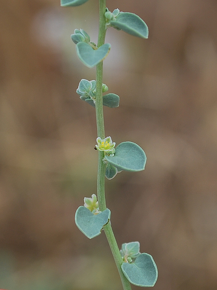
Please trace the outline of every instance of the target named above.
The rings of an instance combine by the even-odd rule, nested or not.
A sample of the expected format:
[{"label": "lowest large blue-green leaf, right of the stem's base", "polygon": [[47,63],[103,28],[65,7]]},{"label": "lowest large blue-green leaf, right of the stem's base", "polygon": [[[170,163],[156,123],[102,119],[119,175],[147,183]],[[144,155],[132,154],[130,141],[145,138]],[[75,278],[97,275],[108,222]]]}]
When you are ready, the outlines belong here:
[{"label": "lowest large blue-green leaf, right of the stem's base", "polygon": [[134,263],[123,263],[121,269],[127,280],[140,287],[153,287],[157,281],[158,271],[152,256],[140,254]]}]

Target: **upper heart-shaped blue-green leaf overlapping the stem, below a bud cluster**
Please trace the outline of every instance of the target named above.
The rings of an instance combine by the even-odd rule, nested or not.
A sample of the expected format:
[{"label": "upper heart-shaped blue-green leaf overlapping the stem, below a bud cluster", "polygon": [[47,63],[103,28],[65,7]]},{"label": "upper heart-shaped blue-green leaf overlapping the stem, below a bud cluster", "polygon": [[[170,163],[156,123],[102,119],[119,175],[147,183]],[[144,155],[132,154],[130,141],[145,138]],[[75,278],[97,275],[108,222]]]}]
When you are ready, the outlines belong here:
[{"label": "upper heart-shaped blue-green leaf overlapping the stem, below a bud cluster", "polygon": [[78,42],[76,44],[76,51],[80,60],[88,66],[89,68],[93,68],[100,61],[103,61],[108,55],[111,49],[111,44],[105,43],[100,46],[98,49],[93,49],[86,42]]}]

